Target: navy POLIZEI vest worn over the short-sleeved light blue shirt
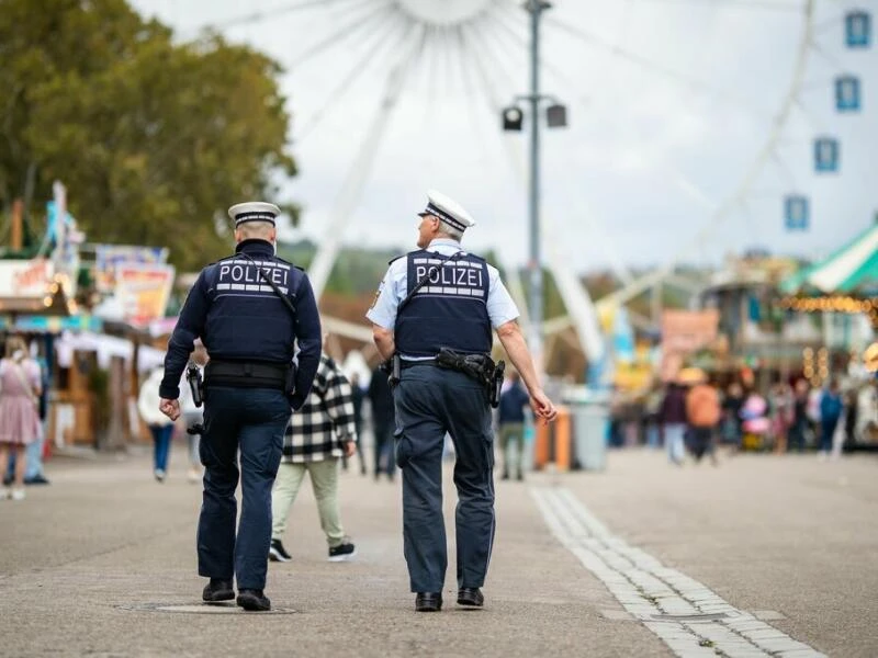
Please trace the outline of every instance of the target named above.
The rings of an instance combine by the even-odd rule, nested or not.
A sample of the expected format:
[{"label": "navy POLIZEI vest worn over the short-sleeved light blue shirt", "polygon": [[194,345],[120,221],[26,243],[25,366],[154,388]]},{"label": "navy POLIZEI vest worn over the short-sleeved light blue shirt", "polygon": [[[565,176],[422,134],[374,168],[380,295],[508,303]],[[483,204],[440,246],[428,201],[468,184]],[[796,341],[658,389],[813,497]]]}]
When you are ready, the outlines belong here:
[{"label": "navy POLIZEI vest worn over the short-sleeved light blue shirt", "polygon": [[408,291],[425,275],[429,279],[396,315],[396,350],[406,356],[436,356],[441,348],[489,353],[487,262],[463,252],[440,264],[444,254],[423,249],[405,258]]}]

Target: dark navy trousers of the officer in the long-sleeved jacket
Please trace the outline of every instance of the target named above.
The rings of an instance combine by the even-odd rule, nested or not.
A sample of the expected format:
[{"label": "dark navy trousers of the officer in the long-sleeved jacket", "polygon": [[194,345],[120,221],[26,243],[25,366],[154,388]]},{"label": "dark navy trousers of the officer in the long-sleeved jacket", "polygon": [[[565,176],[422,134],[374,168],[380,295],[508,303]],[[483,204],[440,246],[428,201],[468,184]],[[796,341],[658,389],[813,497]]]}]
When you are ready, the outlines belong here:
[{"label": "dark navy trousers of the officer in the long-sleeved jacket", "polygon": [[[199,517],[199,575],[237,579],[238,589],[264,589],[271,542],[271,487],[290,421],[281,390],[206,387],[204,433],[199,444],[204,464],[204,497]],[[241,512],[235,532],[240,450]]]}]

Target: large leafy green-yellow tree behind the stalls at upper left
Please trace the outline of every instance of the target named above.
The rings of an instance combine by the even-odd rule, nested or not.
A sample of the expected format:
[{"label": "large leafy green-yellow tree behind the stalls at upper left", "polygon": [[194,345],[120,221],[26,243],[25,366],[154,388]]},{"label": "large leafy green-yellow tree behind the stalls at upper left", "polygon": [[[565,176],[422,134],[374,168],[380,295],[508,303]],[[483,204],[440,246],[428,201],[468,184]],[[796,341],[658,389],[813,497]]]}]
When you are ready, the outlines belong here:
[{"label": "large leafy green-yellow tree behind the stalls at upper left", "polygon": [[295,173],[280,66],[215,34],[177,44],[124,0],[5,0],[0,61],[0,204],[38,211],[61,180],[89,241],[196,269],[228,252],[229,205]]}]

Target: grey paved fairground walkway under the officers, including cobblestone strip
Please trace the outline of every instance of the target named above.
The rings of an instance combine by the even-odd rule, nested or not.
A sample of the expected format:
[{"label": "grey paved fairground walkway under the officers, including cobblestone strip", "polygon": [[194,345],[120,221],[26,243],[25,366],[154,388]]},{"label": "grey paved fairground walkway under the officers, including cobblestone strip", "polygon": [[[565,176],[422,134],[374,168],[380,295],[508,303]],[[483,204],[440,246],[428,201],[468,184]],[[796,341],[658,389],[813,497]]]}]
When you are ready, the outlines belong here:
[{"label": "grey paved fairground walkway under the officers, including cobblestone strip", "polygon": [[453,605],[452,545],[439,614],[413,610],[399,485],[353,472],[354,561],[326,561],[306,487],[293,560],[270,565],[277,613],[209,612],[183,464],[159,485],[143,451],[56,457],[50,486],[0,501],[0,656],[878,656],[874,456],[674,468],[634,451],[497,483],[486,606]]}]

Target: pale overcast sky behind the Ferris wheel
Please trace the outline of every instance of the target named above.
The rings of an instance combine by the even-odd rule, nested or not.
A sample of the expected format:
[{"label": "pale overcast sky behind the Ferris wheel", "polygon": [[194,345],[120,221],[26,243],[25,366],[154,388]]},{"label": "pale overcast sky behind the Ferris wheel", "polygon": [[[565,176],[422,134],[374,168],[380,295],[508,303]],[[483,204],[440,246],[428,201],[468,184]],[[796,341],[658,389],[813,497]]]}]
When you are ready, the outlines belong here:
[{"label": "pale overcast sky behind the Ferris wheel", "polygon": [[[364,185],[346,243],[409,247],[415,213],[435,188],[475,217],[465,239],[471,249],[494,248],[505,264],[524,263],[527,133],[504,134],[496,110],[529,87],[528,15],[520,3],[309,0],[299,7],[305,3],[133,0],[181,39],[212,25],[286,69],[282,84],[301,175],[284,193],[304,207],[301,228],[286,237],[325,236],[334,207],[354,201],[341,190],[359,173]],[[614,262],[657,265],[679,252],[688,262],[718,263],[754,247],[814,257],[868,226],[878,209],[878,185],[867,169],[878,146],[878,52],[874,45],[847,49],[842,16],[855,5],[876,10],[878,0],[815,0],[814,46],[798,103],[744,203],[717,218],[772,135],[792,83],[804,5],[558,0],[541,32],[542,91],[564,102],[570,117],[570,127],[542,133],[542,226],[551,248],[577,271]],[[416,22],[406,24],[403,15]],[[349,23],[361,27],[331,38]],[[434,25],[424,50],[415,46],[420,24]],[[393,70],[405,77],[382,129],[378,117]],[[840,72],[863,79],[862,113],[835,112],[832,80]],[[840,174],[813,172],[812,139],[823,134],[841,139]],[[807,232],[784,227],[789,192],[811,198]]]}]

